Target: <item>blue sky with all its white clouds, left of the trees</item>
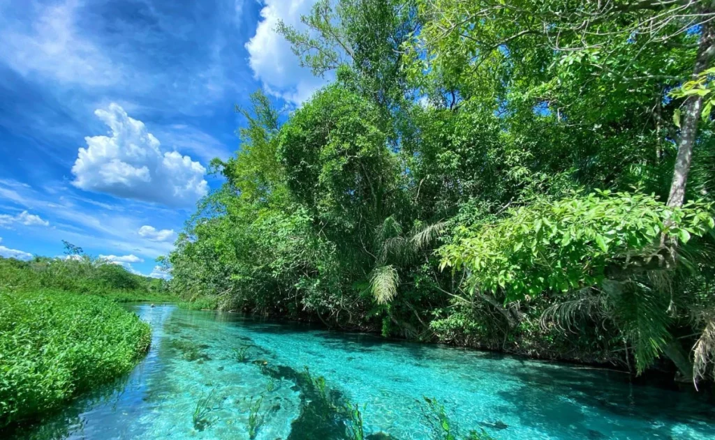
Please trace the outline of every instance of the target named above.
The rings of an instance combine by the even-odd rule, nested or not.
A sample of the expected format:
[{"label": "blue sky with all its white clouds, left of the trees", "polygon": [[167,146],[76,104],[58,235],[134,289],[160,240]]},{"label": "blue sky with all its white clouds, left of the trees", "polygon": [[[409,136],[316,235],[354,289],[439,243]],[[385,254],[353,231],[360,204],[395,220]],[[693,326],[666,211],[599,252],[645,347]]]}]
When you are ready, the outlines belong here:
[{"label": "blue sky with all its white clouds, left of the trees", "polygon": [[142,274],[238,148],[233,111],[325,84],[274,31],[312,0],[0,0],[0,255],[61,240]]}]

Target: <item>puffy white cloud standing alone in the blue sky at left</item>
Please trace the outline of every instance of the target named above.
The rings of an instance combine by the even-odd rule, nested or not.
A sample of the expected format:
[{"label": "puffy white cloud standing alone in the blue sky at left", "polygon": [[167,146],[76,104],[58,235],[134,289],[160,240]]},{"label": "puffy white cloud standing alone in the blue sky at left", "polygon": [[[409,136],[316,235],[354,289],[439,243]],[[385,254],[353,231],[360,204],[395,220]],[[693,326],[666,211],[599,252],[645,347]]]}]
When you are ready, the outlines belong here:
[{"label": "puffy white cloud standing alone in the blue sky at left", "polygon": [[87,136],[72,166],[77,188],[167,206],[190,206],[208,191],[206,169],[177,151],[162,154],[159,140],[142,121],[117,104],[94,114],[112,136]]}]

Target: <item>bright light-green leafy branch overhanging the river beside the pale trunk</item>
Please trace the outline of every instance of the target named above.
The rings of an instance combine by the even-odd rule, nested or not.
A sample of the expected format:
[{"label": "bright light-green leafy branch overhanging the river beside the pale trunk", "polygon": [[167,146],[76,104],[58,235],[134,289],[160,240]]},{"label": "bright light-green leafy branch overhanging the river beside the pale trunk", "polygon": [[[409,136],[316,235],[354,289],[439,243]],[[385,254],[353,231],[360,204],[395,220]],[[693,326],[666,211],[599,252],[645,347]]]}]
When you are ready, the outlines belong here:
[{"label": "bright light-green leafy branch overhanging the river beside the pale trunk", "polygon": [[652,195],[598,191],[535,201],[476,230],[458,228],[440,251],[443,266],[470,271],[470,289],[503,290],[517,301],[600,284],[612,265],[657,260],[648,251],[661,237],[687,243],[714,226],[708,204],[672,209]]}]

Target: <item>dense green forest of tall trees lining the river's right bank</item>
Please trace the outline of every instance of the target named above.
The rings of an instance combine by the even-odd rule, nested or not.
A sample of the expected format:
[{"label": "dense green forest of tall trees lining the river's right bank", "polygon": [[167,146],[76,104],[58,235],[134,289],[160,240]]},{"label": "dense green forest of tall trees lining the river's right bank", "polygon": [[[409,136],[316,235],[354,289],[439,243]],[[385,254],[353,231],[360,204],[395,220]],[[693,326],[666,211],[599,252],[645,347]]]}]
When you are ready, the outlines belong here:
[{"label": "dense green forest of tall trees lining the river's right bank", "polygon": [[715,4],[319,1],[164,260],[189,301],[677,371],[715,357]]}]

